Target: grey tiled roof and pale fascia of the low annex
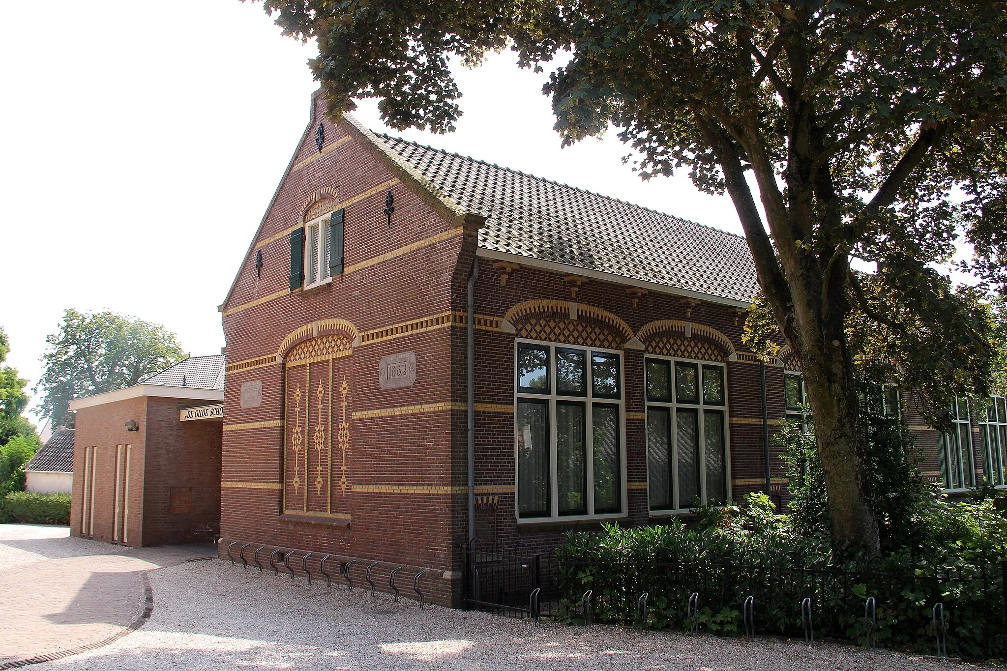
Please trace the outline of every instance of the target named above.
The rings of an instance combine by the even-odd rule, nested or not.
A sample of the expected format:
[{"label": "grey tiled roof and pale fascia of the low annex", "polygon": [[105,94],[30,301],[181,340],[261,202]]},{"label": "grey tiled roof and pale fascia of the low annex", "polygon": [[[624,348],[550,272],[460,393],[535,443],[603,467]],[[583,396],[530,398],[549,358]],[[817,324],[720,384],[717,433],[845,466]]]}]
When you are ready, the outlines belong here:
[{"label": "grey tiled roof and pale fascia of the low annex", "polygon": [[69,401],[69,409],[79,410],[136,396],[160,396],[186,400],[224,401],[224,354],[190,356],[147,379],[104,393],[96,393]]}]

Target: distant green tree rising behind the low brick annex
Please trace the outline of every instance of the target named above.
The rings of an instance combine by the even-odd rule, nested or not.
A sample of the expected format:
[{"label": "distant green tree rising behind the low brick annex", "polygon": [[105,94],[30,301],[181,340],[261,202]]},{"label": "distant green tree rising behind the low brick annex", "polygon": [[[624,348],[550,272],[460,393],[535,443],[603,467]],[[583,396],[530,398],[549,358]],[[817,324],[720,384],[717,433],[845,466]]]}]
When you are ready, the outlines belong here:
[{"label": "distant green tree rising behind the low brick annex", "polygon": [[53,424],[66,416],[69,401],[121,389],[185,358],[178,338],[160,324],[114,312],[63,313],[59,331],[45,338],[40,411]]}]

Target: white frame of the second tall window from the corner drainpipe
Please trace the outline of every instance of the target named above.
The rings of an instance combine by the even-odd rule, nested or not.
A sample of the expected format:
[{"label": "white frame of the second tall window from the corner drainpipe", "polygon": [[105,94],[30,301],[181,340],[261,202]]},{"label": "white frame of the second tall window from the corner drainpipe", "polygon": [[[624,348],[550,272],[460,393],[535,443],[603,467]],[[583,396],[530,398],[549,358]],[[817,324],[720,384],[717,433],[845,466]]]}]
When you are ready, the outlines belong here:
[{"label": "white frame of the second tall window from the corner drainpipe", "polygon": [[[671,402],[651,400],[646,396],[646,360],[648,359],[660,359],[662,361],[669,361],[671,365],[671,377],[669,378],[669,384],[671,385]],[[684,403],[678,401],[678,396],[675,389],[675,362],[682,361],[684,363],[697,363],[699,367],[697,368],[699,377],[696,380],[699,401],[695,403]],[[703,366],[718,366],[723,370],[724,379],[724,404],[714,405],[702,402],[703,399]],[[696,409],[697,412],[697,436],[696,442],[699,444],[699,478],[700,478],[700,500],[704,503],[707,500],[706,492],[706,423],[703,422],[703,412],[706,409],[717,410],[723,412],[724,416],[724,497],[725,504],[727,501],[731,500],[733,493],[731,491],[731,421],[728,413],[729,399],[727,397],[727,365],[723,361],[704,361],[703,359],[689,359],[683,356],[663,356],[660,354],[645,354],[643,356],[643,424],[644,424],[644,455],[646,460],[646,484],[648,484],[648,496],[646,496],[646,508],[650,511],[651,517],[675,517],[678,515],[687,515],[691,511],[695,510],[693,507],[680,508],[679,507],[679,451],[678,451],[678,408],[689,408]],[[674,508],[651,508],[651,453],[650,453],[650,436],[648,432],[650,431],[650,423],[648,422],[648,412],[651,407],[668,407],[671,408],[671,422],[669,431],[671,432],[672,444],[672,455],[674,459],[672,460],[672,503]],[[719,506],[718,506],[719,507]]]}]

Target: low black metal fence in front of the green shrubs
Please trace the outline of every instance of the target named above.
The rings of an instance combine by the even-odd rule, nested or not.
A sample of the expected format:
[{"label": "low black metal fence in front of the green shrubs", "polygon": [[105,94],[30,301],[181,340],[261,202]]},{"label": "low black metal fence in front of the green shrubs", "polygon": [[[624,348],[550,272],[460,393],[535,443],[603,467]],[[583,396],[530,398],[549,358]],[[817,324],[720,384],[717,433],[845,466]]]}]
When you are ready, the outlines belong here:
[{"label": "low black metal fence in front of the green shrubs", "polygon": [[465,605],[513,617],[1007,657],[1007,562],[600,563],[469,549]]}]

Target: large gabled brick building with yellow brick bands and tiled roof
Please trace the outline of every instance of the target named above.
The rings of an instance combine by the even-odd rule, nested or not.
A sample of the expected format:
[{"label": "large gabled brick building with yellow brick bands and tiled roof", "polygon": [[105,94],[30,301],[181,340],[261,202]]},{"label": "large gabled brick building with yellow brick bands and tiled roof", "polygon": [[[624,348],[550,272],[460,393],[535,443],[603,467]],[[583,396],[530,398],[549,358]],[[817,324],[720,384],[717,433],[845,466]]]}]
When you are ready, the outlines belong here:
[{"label": "large gabled brick building with yellow brick bands and tiled roof", "polygon": [[801,378],[741,342],[743,238],[322,106],[221,306],[222,555],[425,570],[457,604],[467,538],[536,552],[785,482],[765,428]]}]

